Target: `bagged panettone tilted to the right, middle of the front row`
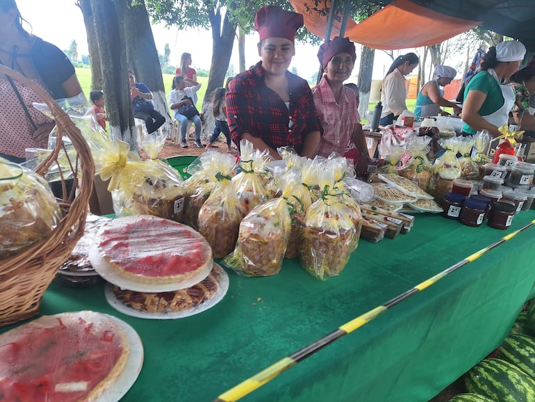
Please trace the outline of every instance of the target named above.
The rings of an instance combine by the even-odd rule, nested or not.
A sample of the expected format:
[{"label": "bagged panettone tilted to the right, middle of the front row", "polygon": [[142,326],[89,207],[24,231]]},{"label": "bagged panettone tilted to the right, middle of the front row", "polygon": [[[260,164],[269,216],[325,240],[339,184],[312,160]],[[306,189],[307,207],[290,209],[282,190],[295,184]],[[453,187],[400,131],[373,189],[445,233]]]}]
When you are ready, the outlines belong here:
[{"label": "bagged panettone tilted to the right, middle of the front row", "polygon": [[276,178],[281,197],[257,205],[243,218],[236,248],[224,259],[238,275],[270,276],[279,273],[290,235],[295,203],[293,188],[299,186],[295,170]]}]

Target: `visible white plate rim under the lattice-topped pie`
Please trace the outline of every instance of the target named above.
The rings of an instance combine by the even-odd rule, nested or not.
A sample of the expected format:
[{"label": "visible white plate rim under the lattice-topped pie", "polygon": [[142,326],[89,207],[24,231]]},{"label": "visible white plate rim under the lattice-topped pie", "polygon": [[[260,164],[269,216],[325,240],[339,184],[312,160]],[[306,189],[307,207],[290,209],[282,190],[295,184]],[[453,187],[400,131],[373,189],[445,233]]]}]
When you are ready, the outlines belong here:
[{"label": "visible white plate rim under the lattice-topped pie", "polygon": [[[139,310],[133,309],[131,307],[128,307],[124,305],[120,300],[118,300],[115,297],[115,294],[113,293],[113,285],[112,284],[106,284],[106,288],[104,289],[104,294],[106,295],[106,300],[108,300],[108,303],[110,303],[111,307],[116,309],[118,312],[122,312],[123,314],[126,314],[127,316],[133,316],[138,319],[153,319],[153,320],[172,320],[172,319],[182,319],[184,317],[192,316],[195,314],[199,314],[201,312],[206,311],[207,309],[215,306],[217,303],[219,303],[227,294],[227,290],[229,290],[229,275],[224,271],[223,268],[219,264],[214,263],[214,268],[218,268],[221,271],[220,279],[219,279],[219,287],[217,288],[217,291],[208,298],[208,300],[204,300],[201,304],[199,304],[197,307],[193,307],[191,309],[184,309],[181,312],[170,312],[170,313],[153,313],[153,312],[140,312]],[[200,282],[200,281],[199,281]]]}]

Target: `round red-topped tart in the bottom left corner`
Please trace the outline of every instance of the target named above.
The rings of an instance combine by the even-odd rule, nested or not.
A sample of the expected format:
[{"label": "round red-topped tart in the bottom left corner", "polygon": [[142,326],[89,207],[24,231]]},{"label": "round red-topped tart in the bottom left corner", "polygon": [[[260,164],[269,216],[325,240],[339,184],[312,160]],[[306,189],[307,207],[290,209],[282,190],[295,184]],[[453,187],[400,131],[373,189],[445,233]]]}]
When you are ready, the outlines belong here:
[{"label": "round red-topped tart in the bottom left corner", "polygon": [[[90,311],[42,316],[0,335],[0,399],[97,400],[115,387],[130,353],[128,335],[110,316]],[[141,362],[142,355],[139,368]]]}]

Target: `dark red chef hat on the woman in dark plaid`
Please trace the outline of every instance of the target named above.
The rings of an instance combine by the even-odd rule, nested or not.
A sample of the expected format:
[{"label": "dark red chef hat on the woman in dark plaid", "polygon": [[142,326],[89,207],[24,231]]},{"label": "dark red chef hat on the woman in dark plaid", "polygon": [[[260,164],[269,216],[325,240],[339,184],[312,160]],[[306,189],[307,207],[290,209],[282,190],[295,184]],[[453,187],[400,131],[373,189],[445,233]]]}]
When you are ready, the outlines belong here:
[{"label": "dark red chef hat on the woman in dark plaid", "polygon": [[265,38],[286,38],[295,40],[297,29],[303,26],[303,16],[286,11],[279,6],[263,6],[254,17],[254,30],[260,40]]}]

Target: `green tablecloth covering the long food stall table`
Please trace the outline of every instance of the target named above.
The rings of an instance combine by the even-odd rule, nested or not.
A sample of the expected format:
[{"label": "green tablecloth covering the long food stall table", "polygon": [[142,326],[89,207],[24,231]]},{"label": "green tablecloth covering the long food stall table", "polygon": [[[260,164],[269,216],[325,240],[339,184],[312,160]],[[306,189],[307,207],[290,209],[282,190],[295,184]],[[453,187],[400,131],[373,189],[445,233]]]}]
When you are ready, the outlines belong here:
[{"label": "green tablecloth covering the long food stall table", "polygon": [[[122,401],[209,402],[534,218],[535,211],[521,212],[510,230],[501,231],[418,215],[409,234],[377,244],[361,241],[345,270],[327,282],[295,260],[271,278],[229,272],[227,296],[186,319],[124,316],[108,305],[102,286],[52,284],[41,312],[92,309],[135,328],[145,361]],[[428,401],[507,335],[535,282],[534,235],[529,227],[242,401]]]}]

